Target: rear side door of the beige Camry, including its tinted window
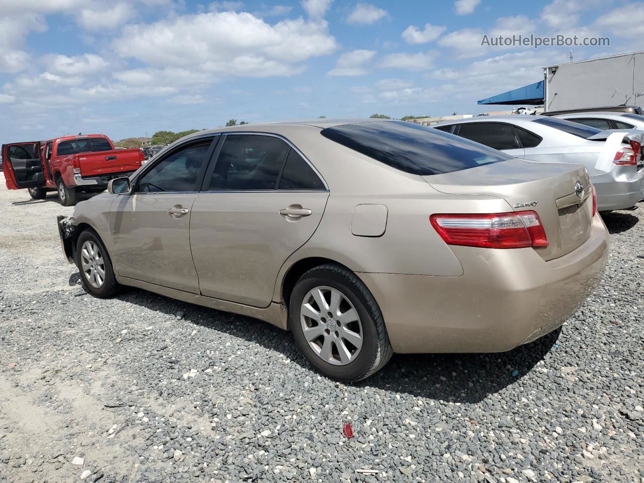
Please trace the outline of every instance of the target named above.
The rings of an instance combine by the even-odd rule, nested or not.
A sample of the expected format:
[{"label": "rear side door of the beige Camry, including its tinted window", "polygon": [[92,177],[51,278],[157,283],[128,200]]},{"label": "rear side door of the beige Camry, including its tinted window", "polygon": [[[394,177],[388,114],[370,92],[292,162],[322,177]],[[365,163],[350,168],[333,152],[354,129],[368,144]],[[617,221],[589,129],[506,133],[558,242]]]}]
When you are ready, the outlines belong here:
[{"label": "rear side door of the beige Camry, including its tinted window", "polygon": [[229,133],[196,196],[190,224],[203,295],[267,307],[279,269],[312,236],[328,189],[285,139]]}]

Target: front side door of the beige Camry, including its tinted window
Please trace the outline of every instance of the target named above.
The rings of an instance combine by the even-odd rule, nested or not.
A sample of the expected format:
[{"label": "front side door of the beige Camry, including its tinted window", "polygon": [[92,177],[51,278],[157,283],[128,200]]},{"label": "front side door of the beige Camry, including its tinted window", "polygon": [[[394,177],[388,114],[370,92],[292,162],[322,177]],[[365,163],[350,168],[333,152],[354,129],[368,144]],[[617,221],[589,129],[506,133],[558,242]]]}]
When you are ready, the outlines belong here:
[{"label": "front side door of the beige Camry, including its tinted window", "polygon": [[199,293],[190,252],[191,209],[218,136],[185,142],[133,180],[110,208],[118,275]]}]

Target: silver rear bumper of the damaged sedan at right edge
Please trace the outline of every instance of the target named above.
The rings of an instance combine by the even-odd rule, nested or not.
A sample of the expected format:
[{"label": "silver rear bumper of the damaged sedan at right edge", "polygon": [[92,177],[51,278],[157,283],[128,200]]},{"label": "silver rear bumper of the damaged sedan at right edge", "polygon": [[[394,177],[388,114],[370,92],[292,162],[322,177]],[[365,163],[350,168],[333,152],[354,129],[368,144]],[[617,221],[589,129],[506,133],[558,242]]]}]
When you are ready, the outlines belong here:
[{"label": "silver rear bumper of the damaged sedan at right edge", "polygon": [[[623,168],[630,168],[630,172]],[[599,211],[630,208],[644,198],[644,168],[639,171],[633,171],[633,168],[618,166],[610,173],[591,176]]]}]

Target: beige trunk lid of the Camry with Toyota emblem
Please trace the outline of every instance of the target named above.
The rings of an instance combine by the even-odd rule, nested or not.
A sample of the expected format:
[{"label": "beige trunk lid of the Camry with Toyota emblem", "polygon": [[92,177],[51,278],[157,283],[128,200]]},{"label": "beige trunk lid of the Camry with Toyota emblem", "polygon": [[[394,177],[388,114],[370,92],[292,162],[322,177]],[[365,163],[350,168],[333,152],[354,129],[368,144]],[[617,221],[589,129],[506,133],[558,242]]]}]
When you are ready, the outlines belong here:
[{"label": "beige trunk lid of the Camry with Toyota emblem", "polygon": [[[585,167],[578,164],[515,158],[422,178],[442,193],[497,196],[509,204],[507,211],[536,211],[549,242],[535,249],[544,260],[564,256],[591,234],[591,181]],[[583,188],[580,195],[575,191],[577,182]]]}]

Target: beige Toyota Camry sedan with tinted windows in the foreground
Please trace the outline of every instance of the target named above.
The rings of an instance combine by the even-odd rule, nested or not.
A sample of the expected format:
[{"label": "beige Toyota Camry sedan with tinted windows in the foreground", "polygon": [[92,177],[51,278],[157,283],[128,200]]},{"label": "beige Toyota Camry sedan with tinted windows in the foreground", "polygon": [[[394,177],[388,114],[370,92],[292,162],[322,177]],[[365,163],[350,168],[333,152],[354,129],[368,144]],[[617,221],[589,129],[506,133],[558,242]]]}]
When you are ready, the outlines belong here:
[{"label": "beige Toyota Camry sedan with tinted windows in the foreground", "polygon": [[130,285],[263,319],[343,381],[393,352],[500,352],[551,332],[608,247],[583,166],[383,120],[190,135],[59,231],[95,296]]}]

